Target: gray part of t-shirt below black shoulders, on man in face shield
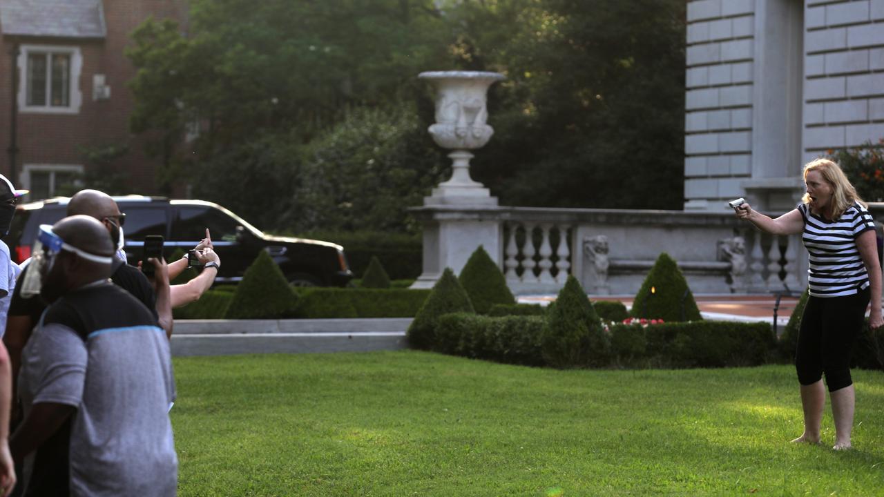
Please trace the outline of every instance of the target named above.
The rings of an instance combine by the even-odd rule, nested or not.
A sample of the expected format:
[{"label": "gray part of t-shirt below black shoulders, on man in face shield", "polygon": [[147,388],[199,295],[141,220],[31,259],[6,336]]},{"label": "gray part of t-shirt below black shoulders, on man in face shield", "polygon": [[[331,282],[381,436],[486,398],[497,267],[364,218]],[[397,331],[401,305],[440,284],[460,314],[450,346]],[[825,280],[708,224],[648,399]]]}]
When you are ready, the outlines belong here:
[{"label": "gray part of t-shirt below black shoulders, on man in face shield", "polygon": [[[119,298],[112,294],[116,291],[126,294],[108,284],[94,296],[110,293],[114,298],[103,302],[112,304]],[[141,302],[126,298],[150,316]],[[174,495],[178,458],[168,410],[175,386],[164,331],[130,325],[87,333],[84,340],[82,329],[57,322],[34,330],[19,375],[26,416],[40,402],[77,408],[69,452],[72,495]]]}]

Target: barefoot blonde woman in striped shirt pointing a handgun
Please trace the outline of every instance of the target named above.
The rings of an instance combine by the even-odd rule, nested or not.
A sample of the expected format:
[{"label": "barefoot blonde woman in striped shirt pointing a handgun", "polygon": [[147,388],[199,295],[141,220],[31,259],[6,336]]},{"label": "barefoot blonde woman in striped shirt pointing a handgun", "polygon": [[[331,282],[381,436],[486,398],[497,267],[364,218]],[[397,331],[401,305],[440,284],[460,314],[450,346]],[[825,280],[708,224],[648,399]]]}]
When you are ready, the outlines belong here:
[{"label": "barefoot blonde woman in striped shirt pointing a handgun", "polygon": [[748,203],[736,208],[736,216],[767,233],[802,233],[810,255],[810,298],[795,355],[804,433],[793,441],[819,443],[825,373],[835,425],[834,448],[845,449],[850,448],[855,400],[850,356],[870,301],[869,325],[884,325],[874,221],[838,164],[822,158],[806,164],[804,184],[802,203],[779,218],[768,218]]}]

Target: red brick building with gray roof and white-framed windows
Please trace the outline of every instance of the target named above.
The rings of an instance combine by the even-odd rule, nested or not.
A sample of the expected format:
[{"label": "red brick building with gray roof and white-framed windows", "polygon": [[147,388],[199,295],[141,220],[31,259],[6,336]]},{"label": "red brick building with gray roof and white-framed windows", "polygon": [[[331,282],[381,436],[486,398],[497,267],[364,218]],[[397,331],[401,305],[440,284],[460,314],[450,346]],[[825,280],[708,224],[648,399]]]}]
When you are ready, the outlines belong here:
[{"label": "red brick building with gray roof and white-framed windows", "polygon": [[85,172],[81,147],[109,145],[128,147],[116,163],[131,191],[156,192],[154,160],[128,131],[133,96],[126,81],[134,68],[123,53],[149,16],[186,26],[186,3],[0,0],[0,172],[30,189],[30,200],[55,195]]}]

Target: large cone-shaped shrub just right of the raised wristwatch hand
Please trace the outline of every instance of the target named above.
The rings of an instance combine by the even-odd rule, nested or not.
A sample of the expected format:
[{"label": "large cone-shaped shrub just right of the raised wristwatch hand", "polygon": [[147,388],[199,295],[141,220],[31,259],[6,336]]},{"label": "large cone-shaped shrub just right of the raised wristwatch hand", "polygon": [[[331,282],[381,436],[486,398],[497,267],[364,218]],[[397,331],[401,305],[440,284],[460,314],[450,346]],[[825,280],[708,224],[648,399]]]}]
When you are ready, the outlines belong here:
[{"label": "large cone-shaped shrub just right of the raised wristwatch hand", "polygon": [[298,295],[266,251],[248,266],[227,308],[227,319],[274,319],[293,313]]}]

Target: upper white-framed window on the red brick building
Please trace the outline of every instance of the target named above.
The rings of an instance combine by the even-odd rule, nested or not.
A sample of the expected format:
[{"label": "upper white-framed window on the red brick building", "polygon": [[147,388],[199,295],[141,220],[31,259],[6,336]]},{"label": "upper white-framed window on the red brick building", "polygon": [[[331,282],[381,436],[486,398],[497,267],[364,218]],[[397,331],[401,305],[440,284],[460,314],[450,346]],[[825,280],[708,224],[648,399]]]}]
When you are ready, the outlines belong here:
[{"label": "upper white-framed window on the red brick building", "polygon": [[22,45],[19,54],[19,108],[22,112],[80,111],[78,47]]}]

